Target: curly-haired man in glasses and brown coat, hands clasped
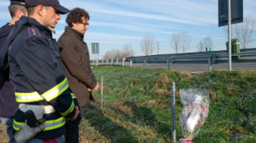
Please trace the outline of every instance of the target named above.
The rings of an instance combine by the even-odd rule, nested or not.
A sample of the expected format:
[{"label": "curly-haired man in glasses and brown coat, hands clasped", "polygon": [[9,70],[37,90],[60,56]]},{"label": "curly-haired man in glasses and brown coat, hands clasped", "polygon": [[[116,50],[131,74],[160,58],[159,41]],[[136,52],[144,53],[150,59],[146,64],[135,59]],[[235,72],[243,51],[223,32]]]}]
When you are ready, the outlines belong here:
[{"label": "curly-haired man in glasses and brown coat, hands clasped", "polygon": [[[84,33],[88,29],[89,19],[90,16],[84,9],[73,9],[66,19],[68,26],[58,40],[60,55],[68,75],[69,87],[78,100],[81,117],[83,117],[84,106],[91,100],[94,101],[92,91],[99,88],[99,83],[90,67],[88,47],[84,42]],[[66,143],[78,143],[80,121],[81,118],[77,118],[75,121],[66,122]]]}]

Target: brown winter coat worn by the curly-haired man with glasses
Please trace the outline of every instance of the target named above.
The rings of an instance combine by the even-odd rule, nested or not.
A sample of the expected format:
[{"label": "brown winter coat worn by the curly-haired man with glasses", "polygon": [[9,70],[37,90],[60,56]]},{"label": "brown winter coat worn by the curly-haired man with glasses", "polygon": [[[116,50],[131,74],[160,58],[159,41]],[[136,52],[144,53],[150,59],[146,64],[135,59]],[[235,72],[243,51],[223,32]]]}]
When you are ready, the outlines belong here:
[{"label": "brown winter coat worn by the curly-haired man with glasses", "polygon": [[92,92],[89,92],[87,87],[94,89],[97,81],[90,67],[84,35],[67,26],[58,40],[58,45],[68,75],[69,87],[75,94],[79,106],[85,106],[91,100],[94,101]]}]

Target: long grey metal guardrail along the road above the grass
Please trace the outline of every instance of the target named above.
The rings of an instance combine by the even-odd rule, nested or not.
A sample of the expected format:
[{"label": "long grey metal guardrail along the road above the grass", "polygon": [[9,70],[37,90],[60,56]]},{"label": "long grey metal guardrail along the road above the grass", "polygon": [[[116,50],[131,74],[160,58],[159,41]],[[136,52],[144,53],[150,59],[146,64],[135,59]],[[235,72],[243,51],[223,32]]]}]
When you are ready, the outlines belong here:
[{"label": "long grey metal guardrail along the road above the grass", "polygon": [[[256,48],[241,49],[239,54],[232,54],[232,56],[240,56],[239,60],[232,60],[232,63],[242,62],[256,62]],[[130,62],[130,67],[133,63],[144,63],[146,68],[147,63],[166,63],[167,69],[170,69],[170,64],[208,64],[209,71],[212,69],[213,64],[228,63],[227,50],[211,51],[211,52],[196,52],[196,53],[183,53],[183,54],[160,54],[150,56],[139,56],[129,58],[117,58],[107,60],[91,60],[92,65],[115,65],[125,66],[125,62]]]}]

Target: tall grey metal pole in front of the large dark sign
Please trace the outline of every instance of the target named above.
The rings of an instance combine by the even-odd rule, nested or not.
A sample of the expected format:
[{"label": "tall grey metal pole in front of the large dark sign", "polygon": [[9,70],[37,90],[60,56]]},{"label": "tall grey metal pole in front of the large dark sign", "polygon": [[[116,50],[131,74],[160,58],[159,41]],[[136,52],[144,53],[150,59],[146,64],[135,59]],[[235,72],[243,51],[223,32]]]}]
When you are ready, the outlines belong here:
[{"label": "tall grey metal pole in front of the large dark sign", "polygon": [[228,69],[232,70],[231,58],[231,0],[228,0]]}]

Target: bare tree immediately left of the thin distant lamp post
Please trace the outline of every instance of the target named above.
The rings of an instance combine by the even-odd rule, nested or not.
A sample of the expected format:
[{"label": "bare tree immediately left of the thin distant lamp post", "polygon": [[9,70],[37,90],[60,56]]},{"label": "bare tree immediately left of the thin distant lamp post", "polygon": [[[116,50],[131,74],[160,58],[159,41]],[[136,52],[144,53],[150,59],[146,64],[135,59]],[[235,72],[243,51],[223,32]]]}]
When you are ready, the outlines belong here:
[{"label": "bare tree immediately left of the thin distant lamp post", "polygon": [[153,54],[156,49],[156,40],[154,36],[144,36],[142,40],[140,40],[140,46],[142,52],[148,56],[149,54]]}]

